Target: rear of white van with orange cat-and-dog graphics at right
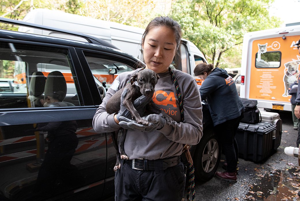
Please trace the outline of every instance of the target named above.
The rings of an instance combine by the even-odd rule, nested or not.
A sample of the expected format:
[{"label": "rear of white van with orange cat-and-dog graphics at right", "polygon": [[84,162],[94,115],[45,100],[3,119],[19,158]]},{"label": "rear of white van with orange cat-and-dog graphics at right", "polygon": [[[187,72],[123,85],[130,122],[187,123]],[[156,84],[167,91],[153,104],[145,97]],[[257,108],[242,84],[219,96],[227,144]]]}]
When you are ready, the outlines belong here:
[{"label": "rear of white van with orange cat-and-dog graphics at right", "polygon": [[299,39],[299,25],[246,33],[240,97],[257,100],[260,108],[291,111],[288,89],[299,73]]}]

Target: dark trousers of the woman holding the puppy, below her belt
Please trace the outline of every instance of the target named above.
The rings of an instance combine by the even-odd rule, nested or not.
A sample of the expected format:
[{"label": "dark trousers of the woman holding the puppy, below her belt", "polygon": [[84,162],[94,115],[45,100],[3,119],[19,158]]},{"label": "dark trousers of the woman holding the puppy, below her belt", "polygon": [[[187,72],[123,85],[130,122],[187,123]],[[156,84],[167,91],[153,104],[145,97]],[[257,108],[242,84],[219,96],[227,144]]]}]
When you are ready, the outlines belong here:
[{"label": "dark trousers of the woman holding the puppy, below her belt", "polygon": [[152,170],[136,170],[121,160],[121,169],[115,173],[116,201],[181,201],[184,194],[185,169],[179,163],[155,173]]}]

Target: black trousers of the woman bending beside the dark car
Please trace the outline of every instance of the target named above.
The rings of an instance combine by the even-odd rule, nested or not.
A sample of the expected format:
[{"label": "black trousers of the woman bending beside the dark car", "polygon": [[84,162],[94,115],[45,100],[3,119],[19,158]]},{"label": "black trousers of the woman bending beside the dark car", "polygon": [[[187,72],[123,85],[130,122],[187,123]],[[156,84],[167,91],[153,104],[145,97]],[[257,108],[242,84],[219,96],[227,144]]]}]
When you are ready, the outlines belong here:
[{"label": "black trousers of the woman bending beside the dark car", "polygon": [[214,127],[217,135],[222,141],[227,162],[227,172],[235,172],[236,170],[238,162],[238,146],[235,140],[235,134],[243,116],[244,115],[242,114],[235,119],[227,120]]}]

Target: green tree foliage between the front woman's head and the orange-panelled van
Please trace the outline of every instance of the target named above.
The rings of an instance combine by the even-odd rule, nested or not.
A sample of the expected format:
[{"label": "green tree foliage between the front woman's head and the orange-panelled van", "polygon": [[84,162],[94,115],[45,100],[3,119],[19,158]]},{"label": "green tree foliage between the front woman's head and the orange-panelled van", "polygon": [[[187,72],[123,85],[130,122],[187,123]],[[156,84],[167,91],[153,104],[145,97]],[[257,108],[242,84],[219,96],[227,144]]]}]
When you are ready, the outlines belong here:
[{"label": "green tree foliage between the front woman's head and the orange-panelled van", "polygon": [[234,56],[233,47],[243,42],[246,32],[280,27],[280,20],[269,16],[272,1],[176,0],[171,16],[182,26],[183,37],[217,67],[223,54]]}]

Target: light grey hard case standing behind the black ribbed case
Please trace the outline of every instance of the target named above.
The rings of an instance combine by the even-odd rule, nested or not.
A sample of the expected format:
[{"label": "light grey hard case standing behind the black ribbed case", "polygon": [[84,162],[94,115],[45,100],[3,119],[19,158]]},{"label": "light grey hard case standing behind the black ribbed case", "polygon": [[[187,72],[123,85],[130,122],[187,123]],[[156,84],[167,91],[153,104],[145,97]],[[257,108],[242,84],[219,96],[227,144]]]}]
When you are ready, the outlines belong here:
[{"label": "light grey hard case standing behind the black ribbed case", "polygon": [[272,131],[272,149],[276,150],[281,141],[282,134],[282,120],[280,115],[274,112],[260,111],[261,122],[268,122],[276,127],[276,130]]}]

